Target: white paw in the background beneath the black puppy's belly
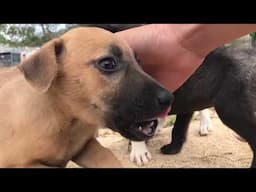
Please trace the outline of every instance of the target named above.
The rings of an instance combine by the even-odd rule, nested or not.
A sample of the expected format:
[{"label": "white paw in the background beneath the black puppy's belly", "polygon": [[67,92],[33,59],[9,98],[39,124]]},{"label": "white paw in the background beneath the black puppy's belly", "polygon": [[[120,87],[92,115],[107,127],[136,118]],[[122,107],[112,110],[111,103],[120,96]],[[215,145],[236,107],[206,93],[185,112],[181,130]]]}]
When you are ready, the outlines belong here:
[{"label": "white paw in the background beneath the black puppy's belly", "polygon": [[208,132],[212,129],[212,121],[210,118],[209,110],[204,109],[200,113],[200,126],[199,126],[199,135],[206,136]]}]

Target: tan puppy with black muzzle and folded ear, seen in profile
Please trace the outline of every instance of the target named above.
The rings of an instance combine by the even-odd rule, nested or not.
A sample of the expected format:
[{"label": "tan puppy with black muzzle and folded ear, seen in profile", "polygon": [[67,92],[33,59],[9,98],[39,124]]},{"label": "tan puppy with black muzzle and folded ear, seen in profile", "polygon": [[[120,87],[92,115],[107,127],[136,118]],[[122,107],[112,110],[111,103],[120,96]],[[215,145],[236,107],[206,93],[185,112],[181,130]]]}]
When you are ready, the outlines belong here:
[{"label": "tan puppy with black muzzle and folded ear, seen in profile", "polygon": [[172,101],[125,42],[103,29],[73,29],[0,69],[0,167],[120,167],[97,129],[148,139]]}]

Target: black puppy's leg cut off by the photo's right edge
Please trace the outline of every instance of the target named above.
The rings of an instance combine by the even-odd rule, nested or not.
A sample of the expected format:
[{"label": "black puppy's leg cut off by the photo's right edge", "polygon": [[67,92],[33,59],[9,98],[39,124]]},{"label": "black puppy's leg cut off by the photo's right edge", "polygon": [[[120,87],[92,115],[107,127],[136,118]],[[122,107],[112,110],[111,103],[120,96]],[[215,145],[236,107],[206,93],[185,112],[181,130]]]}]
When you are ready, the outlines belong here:
[{"label": "black puppy's leg cut off by the photo's right edge", "polygon": [[240,90],[234,96],[220,94],[215,101],[215,110],[226,126],[248,142],[253,152],[251,167],[256,168],[256,105],[254,98],[250,97],[247,92]]}]

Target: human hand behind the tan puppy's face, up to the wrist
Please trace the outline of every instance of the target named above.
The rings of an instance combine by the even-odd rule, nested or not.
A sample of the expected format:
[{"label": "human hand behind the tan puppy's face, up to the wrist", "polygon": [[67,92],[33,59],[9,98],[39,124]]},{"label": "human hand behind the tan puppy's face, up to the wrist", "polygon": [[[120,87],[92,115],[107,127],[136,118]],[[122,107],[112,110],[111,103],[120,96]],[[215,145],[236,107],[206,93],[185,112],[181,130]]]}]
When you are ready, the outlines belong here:
[{"label": "human hand behind the tan puppy's face, up to the wrist", "polygon": [[204,59],[183,46],[177,25],[146,25],[116,35],[138,55],[143,70],[170,91],[179,88]]}]

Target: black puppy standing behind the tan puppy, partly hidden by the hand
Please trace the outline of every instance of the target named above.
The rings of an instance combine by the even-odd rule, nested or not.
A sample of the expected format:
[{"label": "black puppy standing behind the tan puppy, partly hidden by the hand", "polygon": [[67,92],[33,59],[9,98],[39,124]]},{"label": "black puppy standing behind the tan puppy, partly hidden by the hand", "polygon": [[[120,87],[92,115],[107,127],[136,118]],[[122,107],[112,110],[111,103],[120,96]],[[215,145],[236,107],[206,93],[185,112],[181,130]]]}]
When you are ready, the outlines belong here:
[{"label": "black puppy standing behind the tan puppy, partly hidden by the hand", "polygon": [[[111,25],[97,26],[112,32],[140,26]],[[221,47],[212,51],[174,96],[170,114],[177,118],[171,143],[161,148],[163,154],[181,151],[194,111],[215,107],[222,122],[248,142],[253,151],[251,167],[256,167],[256,50]]]}]

